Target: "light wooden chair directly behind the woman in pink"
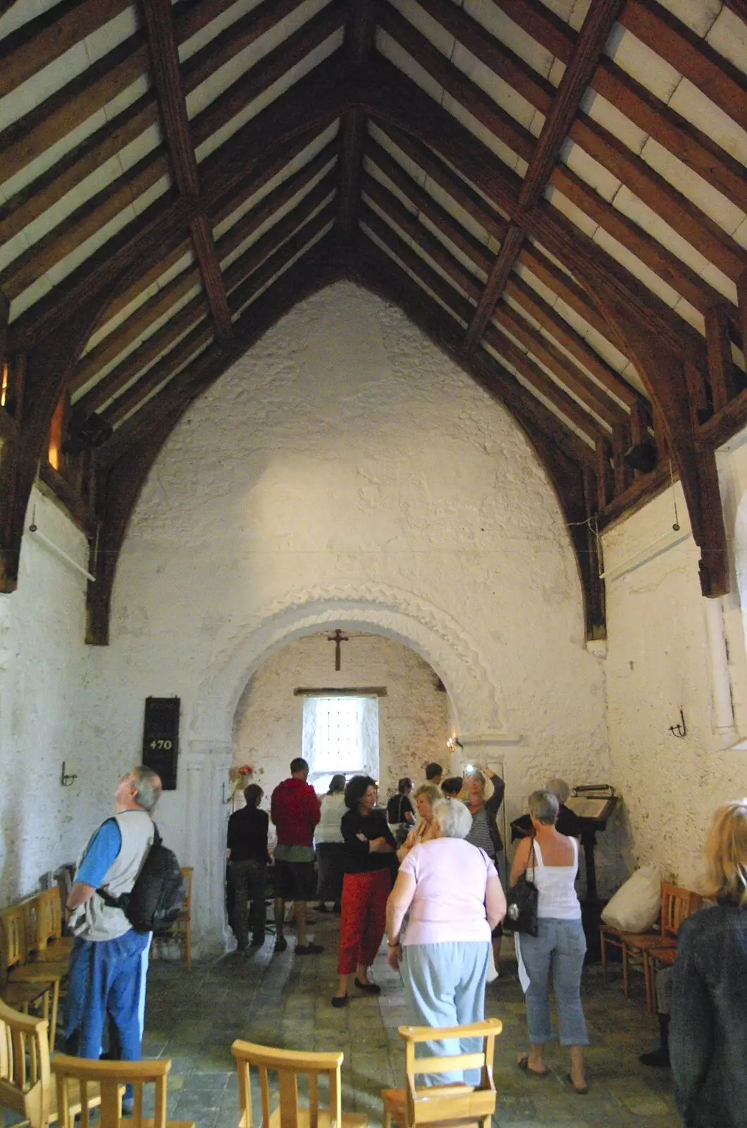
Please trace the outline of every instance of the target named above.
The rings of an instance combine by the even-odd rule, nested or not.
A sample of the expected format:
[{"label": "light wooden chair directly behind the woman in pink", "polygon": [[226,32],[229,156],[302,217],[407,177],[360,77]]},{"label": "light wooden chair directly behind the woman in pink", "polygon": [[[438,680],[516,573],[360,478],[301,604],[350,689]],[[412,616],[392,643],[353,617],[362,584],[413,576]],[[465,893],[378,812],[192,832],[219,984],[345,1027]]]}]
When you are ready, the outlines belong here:
[{"label": "light wooden chair directly behind the woman in pink", "polygon": [[[499,1019],[485,1019],[471,1026],[399,1026],[399,1037],[405,1043],[405,1087],[383,1090],[384,1128],[390,1128],[393,1120],[399,1128],[414,1128],[414,1125],[450,1128],[457,1123],[477,1122],[482,1128],[490,1128],[495,1112],[493,1051],[495,1038],[502,1029]],[[419,1042],[447,1038],[482,1038],[483,1048],[476,1054],[455,1054],[451,1057],[415,1057]],[[418,1084],[419,1074],[452,1069],[480,1069],[480,1084]]]}]

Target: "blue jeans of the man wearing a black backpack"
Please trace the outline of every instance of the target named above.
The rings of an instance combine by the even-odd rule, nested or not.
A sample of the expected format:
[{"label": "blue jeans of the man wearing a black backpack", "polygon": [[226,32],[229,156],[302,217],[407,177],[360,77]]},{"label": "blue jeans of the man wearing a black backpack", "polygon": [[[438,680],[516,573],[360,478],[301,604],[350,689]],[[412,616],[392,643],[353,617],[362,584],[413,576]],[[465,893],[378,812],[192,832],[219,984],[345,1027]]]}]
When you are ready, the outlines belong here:
[{"label": "blue jeans of the man wearing a black backpack", "polygon": [[150,933],[130,929],[116,940],[76,937],[65,999],[65,1052],[98,1058],[107,1017],[124,1061],[140,1060],[142,1006]]}]

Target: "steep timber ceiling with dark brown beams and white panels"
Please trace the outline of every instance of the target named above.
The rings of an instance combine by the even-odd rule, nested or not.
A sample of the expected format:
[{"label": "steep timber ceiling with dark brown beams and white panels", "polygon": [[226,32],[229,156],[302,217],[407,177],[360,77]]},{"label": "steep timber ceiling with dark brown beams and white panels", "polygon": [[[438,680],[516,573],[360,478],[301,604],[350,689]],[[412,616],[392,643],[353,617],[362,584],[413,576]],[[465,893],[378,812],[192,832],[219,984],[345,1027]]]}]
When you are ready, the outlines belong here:
[{"label": "steep timber ceiling with dark brown beams and white panels", "polygon": [[[42,458],[99,530],[105,641],[159,446],[348,276],[506,403],[569,522],[603,526],[671,467],[703,591],[726,590],[713,450],[747,421],[747,0],[3,9],[1,589]],[[94,452],[91,423],[111,429]],[[647,442],[657,466],[631,470]],[[597,544],[573,529],[594,635]]]}]

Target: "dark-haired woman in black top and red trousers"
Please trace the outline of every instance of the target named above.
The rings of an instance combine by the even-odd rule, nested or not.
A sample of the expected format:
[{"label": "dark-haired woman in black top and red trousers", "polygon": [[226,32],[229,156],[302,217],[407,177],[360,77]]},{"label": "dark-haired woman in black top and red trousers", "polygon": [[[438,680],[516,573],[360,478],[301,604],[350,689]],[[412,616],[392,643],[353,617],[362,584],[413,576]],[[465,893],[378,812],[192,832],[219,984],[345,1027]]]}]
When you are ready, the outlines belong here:
[{"label": "dark-haired woman in black top and red trousers", "polygon": [[368,969],[379,950],[386,922],[386,901],[392,888],[390,863],[394,838],[384,811],[374,810],[376,783],[370,776],[353,776],[345,787],[342,817],[344,841],[342,917],[340,920],[340,982],[333,1006],[346,1006],[350,977],[359,990],[378,995]]}]

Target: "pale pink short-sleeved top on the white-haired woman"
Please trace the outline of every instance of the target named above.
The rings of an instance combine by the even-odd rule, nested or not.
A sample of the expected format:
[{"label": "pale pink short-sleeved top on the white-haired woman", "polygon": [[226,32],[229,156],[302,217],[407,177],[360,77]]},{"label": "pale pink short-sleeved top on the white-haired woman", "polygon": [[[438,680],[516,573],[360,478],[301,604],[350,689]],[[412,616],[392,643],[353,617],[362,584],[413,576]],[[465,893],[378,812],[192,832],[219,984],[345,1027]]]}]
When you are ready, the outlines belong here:
[{"label": "pale pink short-sleeved top on the white-haired woman", "polygon": [[415,879],[403,944],[490,940],[485,889],[498,874],[484,851],[463,838],[434,838],[415,846],[399,872]]}]

